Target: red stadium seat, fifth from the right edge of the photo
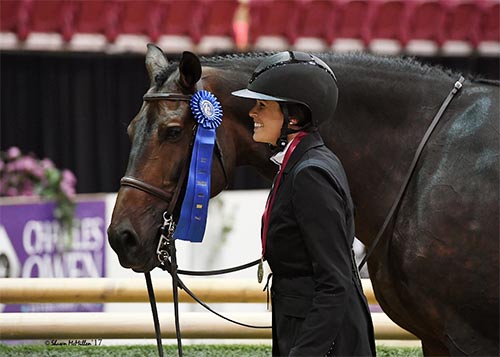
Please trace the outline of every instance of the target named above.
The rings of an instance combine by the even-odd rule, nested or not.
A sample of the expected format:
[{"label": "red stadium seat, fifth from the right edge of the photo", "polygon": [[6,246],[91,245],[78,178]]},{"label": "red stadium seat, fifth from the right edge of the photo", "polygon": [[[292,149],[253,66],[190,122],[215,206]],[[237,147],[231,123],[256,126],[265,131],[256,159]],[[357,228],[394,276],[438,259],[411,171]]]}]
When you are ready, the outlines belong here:
[{"label": "red stadium seat, fifth from the right edge of the photo", "polygon": [[369,22],[374,2],[336,0],[338,25],[332,48],[335,51],[363,50],[370,42]]}]

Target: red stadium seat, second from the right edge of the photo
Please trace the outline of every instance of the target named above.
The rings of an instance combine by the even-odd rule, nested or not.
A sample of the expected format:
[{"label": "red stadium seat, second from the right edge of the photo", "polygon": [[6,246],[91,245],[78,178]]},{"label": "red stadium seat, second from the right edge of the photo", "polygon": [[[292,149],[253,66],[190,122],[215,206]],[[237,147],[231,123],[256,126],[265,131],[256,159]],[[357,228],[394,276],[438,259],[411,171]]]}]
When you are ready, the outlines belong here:
[{"label": "red stadium seat, second from the right edge of the photo", "polygon": [[447,54],[467,55],[479,43],[480,3],[472,0],[447,0],[444,3],[448,11],[442,50]]}]

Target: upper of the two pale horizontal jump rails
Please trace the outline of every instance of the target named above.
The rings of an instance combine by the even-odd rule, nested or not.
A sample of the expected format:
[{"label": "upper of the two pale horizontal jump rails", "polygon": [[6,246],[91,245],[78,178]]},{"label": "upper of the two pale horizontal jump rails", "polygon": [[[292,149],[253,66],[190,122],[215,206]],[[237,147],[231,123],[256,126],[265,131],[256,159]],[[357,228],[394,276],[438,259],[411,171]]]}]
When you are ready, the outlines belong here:
[{"label": "upper of the two pale horizontal jump rails", "polygon": [[[207,303],[260,303],[266,302],[262,285],[251,279],[183,279],[186,286]],[[158,302],[172,302],[170,278],[154,279]],[[370,304],[376,304],[371,283],[363,279],[363,290]],[[66,303],[66,302],[148,302],[143,279],[110,278],[6,278],[0,279],[0,303]],[[183,290],[179,301],[194,300]]]}]

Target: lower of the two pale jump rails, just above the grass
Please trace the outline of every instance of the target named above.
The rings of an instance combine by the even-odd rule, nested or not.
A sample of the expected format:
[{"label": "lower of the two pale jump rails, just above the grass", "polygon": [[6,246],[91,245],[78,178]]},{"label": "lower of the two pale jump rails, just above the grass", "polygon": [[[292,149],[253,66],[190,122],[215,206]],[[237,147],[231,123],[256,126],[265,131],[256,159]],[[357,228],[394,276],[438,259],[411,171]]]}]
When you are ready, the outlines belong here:
[{"label": "lower of the two pale jump rails, just above the grass", "polygon": [[[238,321],[271,325],[271,313],[228,313]],[[411,333],[392,322],[384,313],[372,313],[375,338],[379,340],[415,340]],[[163,338],[175,338],[173,315],[161,316]],[[252,329],[234,325],[205,312],[180,314],[183,338],[267,339],[270,329]],[[6,313],[0,315],[0,336],[20,339],[134,339],[154,338],[151,314],[147,313]]]}]

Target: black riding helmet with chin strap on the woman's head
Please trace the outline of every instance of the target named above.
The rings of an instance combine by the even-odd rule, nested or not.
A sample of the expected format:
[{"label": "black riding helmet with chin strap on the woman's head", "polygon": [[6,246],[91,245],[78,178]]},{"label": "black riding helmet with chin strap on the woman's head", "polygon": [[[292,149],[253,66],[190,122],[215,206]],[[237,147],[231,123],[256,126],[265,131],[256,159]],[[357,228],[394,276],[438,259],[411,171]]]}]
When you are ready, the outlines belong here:
[{"label": "black riding helmet with chin strap on the woman's head", "polygon": [[298,51],[274,54],[262,61],[254,70],[246,89],[232,94],[255,100],[273,100],[283,109],[280,149],[286,146],[288,115],[286,103],[304,105],[311,114],[315,127],[330,120],[337,107],[338,88],[335,74],[318,57]]}]

